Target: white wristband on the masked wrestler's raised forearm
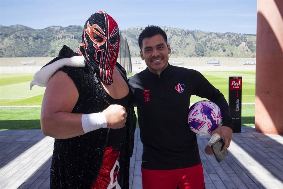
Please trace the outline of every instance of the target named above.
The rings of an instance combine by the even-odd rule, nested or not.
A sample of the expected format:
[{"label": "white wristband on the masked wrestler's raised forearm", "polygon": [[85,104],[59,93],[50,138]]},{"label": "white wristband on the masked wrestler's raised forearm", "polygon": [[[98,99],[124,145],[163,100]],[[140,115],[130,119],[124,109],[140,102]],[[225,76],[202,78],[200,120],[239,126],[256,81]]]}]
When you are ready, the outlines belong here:
[{"label": "white wristband on the masked wrestler's raised forearm", "polygon": [[106,118],[104,113],[90,113],[82,115],[82,126],[83,131],[88,133],[90,131],[94,131],[99,128],[106,128]]}]

